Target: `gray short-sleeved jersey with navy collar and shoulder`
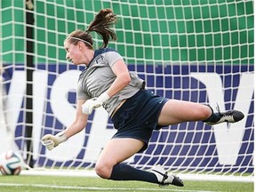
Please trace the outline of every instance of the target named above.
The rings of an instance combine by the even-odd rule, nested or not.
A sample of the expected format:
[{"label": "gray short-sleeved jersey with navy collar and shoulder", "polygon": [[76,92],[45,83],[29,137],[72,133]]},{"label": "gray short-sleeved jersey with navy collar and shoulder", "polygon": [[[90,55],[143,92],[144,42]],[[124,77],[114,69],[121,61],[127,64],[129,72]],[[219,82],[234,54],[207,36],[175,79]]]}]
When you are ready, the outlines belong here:
[{"label": "gray short-sleeved jersey with navy collar and shoulder", "polygon": [[[79,76],[77,84],[76,99],[89,100],[99,97],[101,93],[106,92],[116,79],[112,67],[117,60],[123,60],[123,57],[114,49],[104,48],[94,52],[93,59],[88,67]],[[106,103],[103,108],[111,115],[113,110],[122,100],[132,97],[144,86],[144,81],[136,73],[129,71],[131,82],[121,92],[118,92]]]}]

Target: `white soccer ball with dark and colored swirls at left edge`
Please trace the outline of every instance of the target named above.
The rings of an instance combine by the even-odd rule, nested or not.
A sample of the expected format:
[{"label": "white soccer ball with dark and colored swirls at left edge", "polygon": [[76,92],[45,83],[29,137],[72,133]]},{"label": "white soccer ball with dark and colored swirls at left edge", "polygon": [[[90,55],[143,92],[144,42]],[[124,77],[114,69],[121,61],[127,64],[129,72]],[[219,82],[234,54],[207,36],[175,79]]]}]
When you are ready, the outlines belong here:
[{"label": "white soccer ball with dark and colored swirls at left edge", "polygon": [[8,150],[0,156],[0,172],[3,175],[19,175],[23,159],[16,151]]}]

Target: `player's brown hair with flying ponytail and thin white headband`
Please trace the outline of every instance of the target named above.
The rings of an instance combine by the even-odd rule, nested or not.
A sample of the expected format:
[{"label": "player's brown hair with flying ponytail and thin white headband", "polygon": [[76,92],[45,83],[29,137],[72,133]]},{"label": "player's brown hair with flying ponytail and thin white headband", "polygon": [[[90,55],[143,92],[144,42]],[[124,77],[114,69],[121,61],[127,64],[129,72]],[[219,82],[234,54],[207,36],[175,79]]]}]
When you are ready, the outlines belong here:
[{"label": "player's brown hair with flying ponytail and thin white headband", "polygon": [[86,46],[92,48],[93,41],[89,33],[94,31],[103,40],[100,48],[105,48],[108,46],[109,40],[116,41],[116,33],[111,28],[116,23],[116,20],[116,14],[111,9],[102,9],[95,16],[94,20],[92,20],[86,31],[75,30],[69,34],[65,41],[68,40],[71,44],[77,44],[79,41],[83,41]]}]

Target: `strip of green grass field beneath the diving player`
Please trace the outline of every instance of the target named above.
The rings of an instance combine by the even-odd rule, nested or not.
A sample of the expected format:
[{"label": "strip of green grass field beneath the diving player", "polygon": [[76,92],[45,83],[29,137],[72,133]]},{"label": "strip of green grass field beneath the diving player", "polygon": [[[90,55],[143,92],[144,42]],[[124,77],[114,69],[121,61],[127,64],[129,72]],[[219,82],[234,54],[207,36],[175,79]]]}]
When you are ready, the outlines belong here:
[{"label": "strip of green grass field beneath the diving player", "polygon": [[185,187],[168,186],[159,188],[155,184],[140,181],[113,181],[95,177],[62,177],[62,176],[2,176],[0,175],[1,192],[62,192],[62,191],[108,191],[108,192],[141,192],[141,191],[178,191],[178,192],[251,192],[252,182],[221,182],[184,180]]}]

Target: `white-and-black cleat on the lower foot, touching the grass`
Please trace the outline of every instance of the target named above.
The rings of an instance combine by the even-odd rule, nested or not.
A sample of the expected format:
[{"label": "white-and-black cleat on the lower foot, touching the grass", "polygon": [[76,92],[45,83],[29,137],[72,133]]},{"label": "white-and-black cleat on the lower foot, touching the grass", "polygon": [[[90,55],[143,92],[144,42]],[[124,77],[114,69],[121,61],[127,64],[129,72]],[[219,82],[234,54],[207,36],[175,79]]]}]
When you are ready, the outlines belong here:
[{"label": "white-and-black cleat on the lower foot, touching the grass", "polygon": [[180,180],[179,177],[176,177],[175,175],[166,172],[160,164],[154,166],[151,172],[153,172],[156,175],[160,187],[168,185],[175,185],[179,187],[184,186],[183,181]]}]

